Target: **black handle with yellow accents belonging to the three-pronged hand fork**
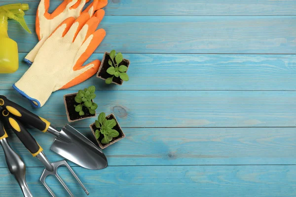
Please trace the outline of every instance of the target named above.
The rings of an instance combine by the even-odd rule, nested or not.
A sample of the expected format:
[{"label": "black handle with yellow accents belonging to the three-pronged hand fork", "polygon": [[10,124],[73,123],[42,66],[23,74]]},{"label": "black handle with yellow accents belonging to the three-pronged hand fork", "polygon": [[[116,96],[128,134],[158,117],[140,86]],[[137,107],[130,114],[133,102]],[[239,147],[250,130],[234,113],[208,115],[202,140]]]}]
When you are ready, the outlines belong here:
[{"label": "black handle with yellow accents belonging to the three-pronged hand fork", "polygon": [[39,146],[35,138],[27,131],[24,125],[12,116],[6,109],[2,111],[2,117],[6,124],[11,127],[12,131],[34,157],[43,151],[41,146]]}]

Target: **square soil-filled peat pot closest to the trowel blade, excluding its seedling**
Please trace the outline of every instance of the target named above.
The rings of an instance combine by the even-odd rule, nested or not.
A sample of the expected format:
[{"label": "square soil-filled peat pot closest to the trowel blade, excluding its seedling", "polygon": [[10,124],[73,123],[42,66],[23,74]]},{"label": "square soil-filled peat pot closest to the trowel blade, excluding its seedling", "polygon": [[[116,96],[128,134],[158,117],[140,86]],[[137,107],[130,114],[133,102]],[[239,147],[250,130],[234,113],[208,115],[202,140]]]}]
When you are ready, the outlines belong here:
[{"label": "square soil-filled peat pot closest to the trowel blade, excluding its seedling", "polygon": [[[108,144],[102,144],[101,141],[104,138],[104,135],[100,132],[100,137],[99,137],[99,139],[96,139],[96,140],[97,140],[97,142],[98,142],[101,149],[107,148],[111,144],[114,144],[115,142],[118,142],[120,139],[125,137],[125,134],[123,133],[121,127],[119,126],[118,121],[116,120],[114,114],[110,114],[110,115],[106,116],[106,119],[107,120],[114,119],[116,121],[116,125],[115,125],[115,127],[113,127],[113,130],[118,131],[119,135],[117,137],[113,137],[112,141],[109,142]],[[96,128],[95,123],[91,124],[89,127],[90,127],[91,132],[94,134],[94,136],[96,138],[96,133],[95,132],[96,132],[97,128]]]}]

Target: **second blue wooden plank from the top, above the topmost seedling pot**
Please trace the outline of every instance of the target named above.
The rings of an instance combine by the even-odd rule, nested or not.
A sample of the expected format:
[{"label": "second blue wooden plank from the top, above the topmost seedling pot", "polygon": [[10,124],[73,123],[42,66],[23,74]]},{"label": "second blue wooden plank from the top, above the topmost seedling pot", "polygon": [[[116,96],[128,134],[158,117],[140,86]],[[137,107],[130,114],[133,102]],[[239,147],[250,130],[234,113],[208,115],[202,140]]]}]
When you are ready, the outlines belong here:
[{"label": "second blue wooden plank from the top, above the topmost seedling pot", "polygon": [[[35,16],[26,16],[31,30]],[[97,53],[245,53],[295,54],[296,16],[106,16],[100,28],[107,35]],[[121,39],[117,39],[118,35]],[[37,43],[35,33],[9,25],[20,52]],[[116,41],[114,41],[116,40]]]}]

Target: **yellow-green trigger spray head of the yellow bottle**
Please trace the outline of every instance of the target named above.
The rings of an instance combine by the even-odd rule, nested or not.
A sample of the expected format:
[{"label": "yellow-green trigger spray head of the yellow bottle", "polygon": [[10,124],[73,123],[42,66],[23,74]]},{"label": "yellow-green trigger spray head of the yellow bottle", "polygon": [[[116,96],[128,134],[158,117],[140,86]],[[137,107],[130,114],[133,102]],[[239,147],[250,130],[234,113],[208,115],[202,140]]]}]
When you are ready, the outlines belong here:
[{"label": "yellow-green trigger spray head of the yellow bottle", "polygon": [[[7,17],[9,19],[16,20],[21,24],[21,26],[29,33],[31,33],[30,29],[28,28],[24,16],[25,10],[29,9],[28,3],[15,3],[15,4],[8,4],[0,6],[0,19],[4,19]],[[7,19],[6,18],[6,19]]]}]

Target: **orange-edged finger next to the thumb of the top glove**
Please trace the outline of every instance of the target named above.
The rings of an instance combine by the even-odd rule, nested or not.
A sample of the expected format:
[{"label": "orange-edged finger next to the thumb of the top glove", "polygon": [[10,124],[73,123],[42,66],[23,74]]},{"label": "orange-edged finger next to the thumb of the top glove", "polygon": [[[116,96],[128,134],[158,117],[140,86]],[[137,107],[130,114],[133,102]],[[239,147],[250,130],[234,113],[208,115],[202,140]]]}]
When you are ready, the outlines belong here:
[{"label": "orange-edged finger next to the thumb of the top glove", "polygon": [[82,65],[100,45],[105,35],[105,30],[100,29],[87,38],[87,40],[82,44],[76,55],[76,64],[74,65],[73,70],[79,70],[83,68]]}]

